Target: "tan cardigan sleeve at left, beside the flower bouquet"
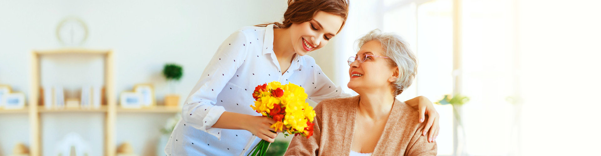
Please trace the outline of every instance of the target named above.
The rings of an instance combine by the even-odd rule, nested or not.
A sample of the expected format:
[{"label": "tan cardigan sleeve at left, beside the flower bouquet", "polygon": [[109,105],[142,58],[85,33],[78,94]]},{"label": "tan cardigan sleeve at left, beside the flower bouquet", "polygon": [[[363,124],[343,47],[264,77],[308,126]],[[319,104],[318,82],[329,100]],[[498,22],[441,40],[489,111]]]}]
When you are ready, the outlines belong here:
[{"label": "tan cardigan sleeve at left, beside the flower bouquet", "polygon": [[288,149],[284,155],[318,155],[319,154],[319,143],[322,137],[322,104],[317,104],[315,107],[315,119],[313,120],[313,136],[303,137],[294,136]]}]

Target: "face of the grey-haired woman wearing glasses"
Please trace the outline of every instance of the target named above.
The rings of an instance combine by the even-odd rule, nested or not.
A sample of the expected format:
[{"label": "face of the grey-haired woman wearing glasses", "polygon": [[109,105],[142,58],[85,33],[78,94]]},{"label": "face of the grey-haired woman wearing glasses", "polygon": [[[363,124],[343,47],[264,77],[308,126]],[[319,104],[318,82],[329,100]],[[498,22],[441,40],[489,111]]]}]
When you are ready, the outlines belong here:
[{"label": "face of the grey-haired woman wearing glasses", "polygon": [[[365,54],[367,58],[361,58],[362,54]],[[380,43],[378,41],[368,41],[363,44],[355,56],[356,61],[350,64],[350,82],[348,84],[350,89],[363,92],[391,88],[391,82],[394,82],[396,78],[395,69],[388,66],[386,59],[389,58],[375,56],[384,57]],[[359,60],[364,60],[364,62],[360,63]]]}]

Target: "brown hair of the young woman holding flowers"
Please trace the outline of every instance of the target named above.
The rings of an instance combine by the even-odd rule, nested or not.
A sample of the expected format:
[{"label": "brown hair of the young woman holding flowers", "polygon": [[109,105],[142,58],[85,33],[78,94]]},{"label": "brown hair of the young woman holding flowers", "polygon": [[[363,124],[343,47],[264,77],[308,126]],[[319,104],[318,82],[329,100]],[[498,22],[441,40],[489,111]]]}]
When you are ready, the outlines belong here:
[{"label": "brown hair of the young woman holding flowers", "polygon": [[[255,26],[267,26],[274,24],[278,28],[289,28],[292,24],[298,24],[307,22],[313,19],[313,16],[317,11],[324,11],[338,15],[343,18],[342,26],[338,29],[338,32],[342,30],[346,18],[349,15],[349,1],[348,0],[288,0],[288,8],[284,13],[284,21],[267,23],[263,25]],[[336,32],[336,33],[338,33]]]}]

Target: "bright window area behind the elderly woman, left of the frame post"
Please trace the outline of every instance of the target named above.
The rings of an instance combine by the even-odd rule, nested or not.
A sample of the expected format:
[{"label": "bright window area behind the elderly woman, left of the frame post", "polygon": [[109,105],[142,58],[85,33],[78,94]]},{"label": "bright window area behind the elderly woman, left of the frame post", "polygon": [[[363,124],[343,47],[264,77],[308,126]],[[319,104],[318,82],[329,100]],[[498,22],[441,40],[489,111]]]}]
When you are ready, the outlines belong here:
[{"label": "bright window area behind the elderly woman, left of the frame post", "polygon": [[[398,5],[398,3],[404,4]],[[418,2],[385,1],[395,6],[383,13],[383,31],[395,32],[408,41],[418,56],[413,85],[398,98],[423,95],[435,101],[453,92],[453,5],[451,0]],[[453,107],[435,106],[441,115],[436,138],[439,155],[453,154]]]}]

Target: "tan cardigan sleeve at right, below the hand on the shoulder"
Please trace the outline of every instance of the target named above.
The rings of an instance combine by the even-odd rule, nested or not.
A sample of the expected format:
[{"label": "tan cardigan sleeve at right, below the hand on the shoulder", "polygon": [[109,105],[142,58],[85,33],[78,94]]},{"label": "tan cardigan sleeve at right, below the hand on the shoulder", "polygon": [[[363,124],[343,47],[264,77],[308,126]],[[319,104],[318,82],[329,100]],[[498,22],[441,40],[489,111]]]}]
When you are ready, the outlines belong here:
[{"label": "tan cardigan sleeve at right, below the hand on the shoulder", "polygon": [[[426,117],[424,121],[428,121],[428,117]],[[438,151],[436,142],[428,142],[428,137],[423,136],[421,133],[424,129],[424,124],[426,124],[426,122],[418,125],[419,128],[413,133],[413,137],[411,138],[409,145],[407,145],[407,150],[404,155],[436,155]]]}]

